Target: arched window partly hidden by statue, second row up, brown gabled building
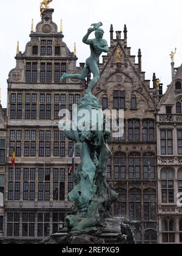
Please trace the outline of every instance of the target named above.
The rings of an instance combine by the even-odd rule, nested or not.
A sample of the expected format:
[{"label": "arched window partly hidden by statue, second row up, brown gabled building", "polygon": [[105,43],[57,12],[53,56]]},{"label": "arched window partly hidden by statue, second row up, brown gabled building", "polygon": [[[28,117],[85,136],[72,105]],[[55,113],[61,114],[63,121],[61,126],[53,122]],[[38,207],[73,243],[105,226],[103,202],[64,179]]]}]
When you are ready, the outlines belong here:
[{"label": "arched window partly hidden by statue, second row up, brown gabled building", "polygon": [[118,192],[118,202],[115,202],[115,216],[126,218],[126,190],[120,189]]}]

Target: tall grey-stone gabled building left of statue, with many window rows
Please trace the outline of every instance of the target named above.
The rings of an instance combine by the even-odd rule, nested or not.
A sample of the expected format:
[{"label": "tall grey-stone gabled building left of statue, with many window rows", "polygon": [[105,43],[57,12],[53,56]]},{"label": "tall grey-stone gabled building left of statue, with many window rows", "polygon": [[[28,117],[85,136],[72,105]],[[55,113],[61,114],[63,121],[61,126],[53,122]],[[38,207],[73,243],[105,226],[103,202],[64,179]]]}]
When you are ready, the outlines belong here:
[{"label": "tall grey-stone gabled building left of statue, with many window rows", "polygon": [[[5,243],[39,243],[59,229],[72,208],[67,194],[73,143],[58,129],[59,110],[72,109],[85,84],[60,83],[63,73],[78,73],[76,56],[47,9],[25,52],[17,52],[8,77]],[[11,157],[15,148],[15,168]]]}]

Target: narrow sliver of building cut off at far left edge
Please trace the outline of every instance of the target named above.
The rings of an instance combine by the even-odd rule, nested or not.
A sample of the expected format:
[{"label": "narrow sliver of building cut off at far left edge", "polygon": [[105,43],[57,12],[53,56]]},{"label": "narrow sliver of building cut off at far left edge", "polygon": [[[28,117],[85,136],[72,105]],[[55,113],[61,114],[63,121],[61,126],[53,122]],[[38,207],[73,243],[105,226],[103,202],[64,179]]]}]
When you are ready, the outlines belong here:
[{"label": "narrow sliver of building cut off at far left edge", "polygon": [[6,171],[7,117],[0,104],[0,244],[4,239],[4,192]]}]

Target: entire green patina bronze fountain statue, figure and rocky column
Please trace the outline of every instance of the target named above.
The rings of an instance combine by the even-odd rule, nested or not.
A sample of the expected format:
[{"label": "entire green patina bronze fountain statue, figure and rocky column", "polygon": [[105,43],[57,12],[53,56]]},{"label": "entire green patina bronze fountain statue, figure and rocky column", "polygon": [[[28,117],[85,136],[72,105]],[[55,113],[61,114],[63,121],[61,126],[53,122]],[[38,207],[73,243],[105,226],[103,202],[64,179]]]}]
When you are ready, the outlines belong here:
[{"label": "entire green patina bronze fountain statue, figure and rocky column", "polygon": [[[83,38],[83,42],[90,44],[91,55],[86,60],[86,68],[82,74],[64,74],[66,78],[85,79],[91,71],[93,79],[90,82],[86,95],[78,104],[79,110],[97,110],[98,119],[90,118],[85,124],[86,129],[64,130],[66,136],[75,141],[76,151],[79,152],[81,162],[74,174],[75,188],[69,193],[69,200],[75,202],[73,215],[67,216],[70,233],[99,232],[105,226],[105,219],[108,216],[111,204],[116,201],[117,194],[107,183],[107,160],[110,151],[107,146],[110,132],[106,129],[99,129],[96,120],[103,120],[103,110],[99,100],[92,95],[92,89],[99,80],[98,60],[102,52],[108,52],[107,41],[103,40],[104,31],[99,27],[102,23],[93,24]],[[95,39],[89,40],[91,32],[95,31]],[[78,116],[77,116],[78,117]],[[79,117],[78,117],[79,119]],[[95,130],[89,130],[95,122]],[[104,123],[104,121],[103,121]],[[66,123],[64,123],[66,126]],[[62,130],[62,124],[59,129]],[[72,127],[77,127],[73,119]]]}]

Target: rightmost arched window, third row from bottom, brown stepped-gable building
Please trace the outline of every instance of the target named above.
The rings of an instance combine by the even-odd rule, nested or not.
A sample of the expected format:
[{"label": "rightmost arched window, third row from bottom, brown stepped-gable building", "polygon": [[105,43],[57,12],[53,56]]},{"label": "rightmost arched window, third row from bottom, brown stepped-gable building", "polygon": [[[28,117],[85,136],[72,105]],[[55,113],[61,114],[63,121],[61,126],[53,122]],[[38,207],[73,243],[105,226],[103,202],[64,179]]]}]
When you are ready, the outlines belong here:
[{"label": "rightmost arched window, third row from bottom, brown stepped-gable building", "polygon": [[155,179],[156,158],[152,152],[143,155],[143,178],[145,180]]}]

